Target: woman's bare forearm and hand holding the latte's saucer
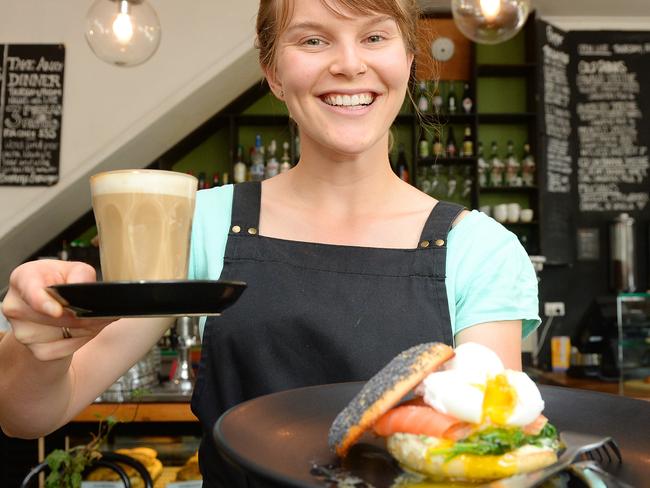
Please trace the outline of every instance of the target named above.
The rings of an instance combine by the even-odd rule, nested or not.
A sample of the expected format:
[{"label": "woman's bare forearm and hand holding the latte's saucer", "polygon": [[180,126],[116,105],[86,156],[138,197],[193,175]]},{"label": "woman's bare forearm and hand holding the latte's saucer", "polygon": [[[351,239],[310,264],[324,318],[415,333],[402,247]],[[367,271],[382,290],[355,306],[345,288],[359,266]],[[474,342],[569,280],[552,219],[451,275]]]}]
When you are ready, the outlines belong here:
[{"label": "woman's bare forearm and hand holding the latte's saucer", "polygon": [[[80,320],[45,291],[94,281],[81,263],[39,261],[12,273],[3,313],[12,331],[0,341],[0,427],[39,437],[72,419],[144,356],[173,319]],[[64,339],[61,327],[72,338]]]}]

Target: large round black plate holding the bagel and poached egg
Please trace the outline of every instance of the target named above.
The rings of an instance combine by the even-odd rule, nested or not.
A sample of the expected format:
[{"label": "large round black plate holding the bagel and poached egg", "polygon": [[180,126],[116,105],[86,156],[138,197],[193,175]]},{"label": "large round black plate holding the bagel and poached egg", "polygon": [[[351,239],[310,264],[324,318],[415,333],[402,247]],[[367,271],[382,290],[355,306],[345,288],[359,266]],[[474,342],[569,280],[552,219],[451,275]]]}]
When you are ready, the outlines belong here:
[{"label": "large round black plate holding the bagel and poached egg", "polygon": [[[288,390],[237,405],[215,424],[217,448],[246,472],[278,486],[329,486],[311,470],[338,463],[327,433],[362,384]],[[544,414],[559,430],[613,436],[624,459],[615,474],[644,486],[650,473],[650,402],[544,385],[540,390]],[[376,488],[390,487],[400,474],[383,440],[369,434],[353,446],[342,467]]]}]

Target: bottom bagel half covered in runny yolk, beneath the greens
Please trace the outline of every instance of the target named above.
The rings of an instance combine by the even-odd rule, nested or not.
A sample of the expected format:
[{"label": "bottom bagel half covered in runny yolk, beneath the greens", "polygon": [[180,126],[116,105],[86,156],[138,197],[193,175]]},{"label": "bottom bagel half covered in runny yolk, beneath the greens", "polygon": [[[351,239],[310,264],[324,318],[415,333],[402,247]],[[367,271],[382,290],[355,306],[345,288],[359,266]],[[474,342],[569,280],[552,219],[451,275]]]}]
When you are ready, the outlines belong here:
[{"label": "bottom bagel half covered in runny yolk, beneath the greens", "polygon": [[557,461],[549,447],[525,445],[501,455],[460,454],[446,461],[430,451],[449,441],[423,435],[397,433],[386,440],[388,452],[407,471],[424,474],[432,481],[479,482],[527,473]]}]

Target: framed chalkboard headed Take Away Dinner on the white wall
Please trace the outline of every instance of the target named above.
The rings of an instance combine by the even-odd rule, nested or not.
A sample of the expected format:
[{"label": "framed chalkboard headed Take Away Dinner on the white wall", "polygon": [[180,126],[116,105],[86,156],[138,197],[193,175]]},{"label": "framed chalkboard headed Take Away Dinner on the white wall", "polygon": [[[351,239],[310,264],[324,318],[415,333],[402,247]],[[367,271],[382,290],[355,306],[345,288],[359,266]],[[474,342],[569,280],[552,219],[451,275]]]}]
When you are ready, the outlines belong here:
[{"label": "framed chalkboard headed Take Away Dinner on the white wall", "polygon": [[0,185],[59,180],[65,47],[0,44]]}]

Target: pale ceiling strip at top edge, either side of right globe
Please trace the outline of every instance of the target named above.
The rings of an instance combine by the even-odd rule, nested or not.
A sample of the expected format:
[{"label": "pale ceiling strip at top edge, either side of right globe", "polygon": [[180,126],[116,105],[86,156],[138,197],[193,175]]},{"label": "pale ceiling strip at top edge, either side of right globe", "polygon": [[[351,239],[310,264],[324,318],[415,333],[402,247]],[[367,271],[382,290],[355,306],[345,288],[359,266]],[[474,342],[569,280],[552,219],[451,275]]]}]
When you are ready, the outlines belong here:
[{"label": "pale ceiling strip at top edge, either side of right globe", "polygon": [[[425,11],[448,11],[451,0],[419,0],[419,3]],[[650,0],[531,0],[531,4],[538,15],[548,17],[650,16]]]}]

